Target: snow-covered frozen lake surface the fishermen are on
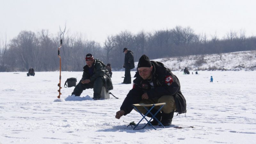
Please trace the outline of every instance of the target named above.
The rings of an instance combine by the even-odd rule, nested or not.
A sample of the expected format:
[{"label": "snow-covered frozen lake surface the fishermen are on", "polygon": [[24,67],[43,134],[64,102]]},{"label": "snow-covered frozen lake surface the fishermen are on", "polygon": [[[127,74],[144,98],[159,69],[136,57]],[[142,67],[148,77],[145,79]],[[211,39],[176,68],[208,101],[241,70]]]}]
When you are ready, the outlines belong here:
[{"label": "snow-covered frozen lake surface the fishermen are on", "polygon": [[[36,72],[29,77],[26,72],[1,72],[0,143],[255,143],[255,71],[173,73],[180,79],[187,100],[186,117],[174,114],[171,126],[156,131],[149,126],[143,130],[127,128],[123,120],[138,123],[141,118],[135,111],[115,118],[132,88],[132,84],[121,84],[124,72],[113,72],[111,92],[119,99],[110,96],[107,100],[92,100],[92,89],[81,97],[69,96],[74,87],[64,88],[66,79],[80,80],[82,72],[62,72],[61,102],[54,102],[59,72]],[[184,128],[174,128],[177,126]],[[190,126],[195,128],[186,128]]]}]

